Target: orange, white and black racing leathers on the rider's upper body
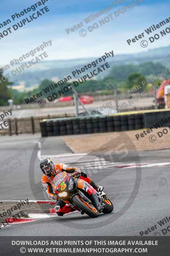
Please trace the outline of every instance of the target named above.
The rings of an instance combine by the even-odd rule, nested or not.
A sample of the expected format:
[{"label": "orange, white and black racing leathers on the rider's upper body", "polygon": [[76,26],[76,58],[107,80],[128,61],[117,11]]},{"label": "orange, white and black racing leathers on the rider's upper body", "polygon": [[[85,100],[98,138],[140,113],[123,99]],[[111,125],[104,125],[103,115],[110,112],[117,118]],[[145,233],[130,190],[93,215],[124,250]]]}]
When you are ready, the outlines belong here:
[{"label": "orange, white and black racing leathers on the rider's upper body", "polygon": [[75,178],[80,178],[82,180],[87,181],[88,183],[91,182],[91,179],[87,175],[83,175],[84,173],[81,172],[81,170],[79,168],[69,167],[66,164],[55,164],[54,166],[55,166],[55,169],[52,171],[52,175],[48,176],[48,175],[44,174],[41,179],[41,183],[42,183],[49,199],[54,199],[53,196],[55,196],[55,193],[54,193],[54,190],[52,187],[52,183],[53,183],[53,179],[54,179],[55,175],[57,175],[59,172],[65,171],[67,173],[71,173],[72,175],[74,175]]}]

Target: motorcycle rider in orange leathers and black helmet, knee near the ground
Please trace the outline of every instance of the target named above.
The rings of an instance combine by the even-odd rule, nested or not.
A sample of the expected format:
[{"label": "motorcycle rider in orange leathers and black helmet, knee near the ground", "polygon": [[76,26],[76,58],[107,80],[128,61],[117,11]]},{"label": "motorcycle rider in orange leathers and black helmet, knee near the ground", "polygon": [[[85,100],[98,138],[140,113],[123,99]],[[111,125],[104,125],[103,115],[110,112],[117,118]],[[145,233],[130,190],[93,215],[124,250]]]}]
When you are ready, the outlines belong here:
[{"label": "motorcycle rider in orange leathers and black helmet, knee near the ground", "polygon": [[98,192],[102,192],[104,188],[99,185],[96,185],[94,181],[91,180],[87,176],[87,174],[85,172],[82,172],[79,168],[69,167],[69,165],[66,165],[66,164],[54,165],[51,158],[48,158],[48,157],[41,160],[40,168],[44,174],[41,179],[41,184],[43,185],[48,195],[48,198],[57,201],[54,209],[58,216],[63,216],[63,214],[65,213],[74,212],[77,210],[77,207],[75,207],[73,204],[66,205],[66,203],[63,202],[62,199],[58,200],[58,197],[55,195],[52,187],[52,183],[55,175],[57,175],[58,173],[65,171],[71,174],[74,178],[80,178],[82,180],[85,180]]}]

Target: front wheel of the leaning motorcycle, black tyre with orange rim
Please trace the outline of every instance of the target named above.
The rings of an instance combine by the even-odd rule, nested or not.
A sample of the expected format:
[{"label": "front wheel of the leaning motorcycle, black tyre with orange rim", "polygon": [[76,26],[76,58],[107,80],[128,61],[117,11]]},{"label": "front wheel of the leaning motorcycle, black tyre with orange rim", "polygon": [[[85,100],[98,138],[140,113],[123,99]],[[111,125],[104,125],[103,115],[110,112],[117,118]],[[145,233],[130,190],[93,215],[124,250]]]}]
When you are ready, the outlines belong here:
[{"label": "front wheel of the leaning motorcycle, black tyre with orange rim", "polygon": [[94,207],[94,205],[89,204],[86,202],[83,198],[81,198],[80,195],[75,195],[72,198],[73,203],[83,212],[85,212],[87,215],[89,215],[92,218],[98,217],[98,210]]}]

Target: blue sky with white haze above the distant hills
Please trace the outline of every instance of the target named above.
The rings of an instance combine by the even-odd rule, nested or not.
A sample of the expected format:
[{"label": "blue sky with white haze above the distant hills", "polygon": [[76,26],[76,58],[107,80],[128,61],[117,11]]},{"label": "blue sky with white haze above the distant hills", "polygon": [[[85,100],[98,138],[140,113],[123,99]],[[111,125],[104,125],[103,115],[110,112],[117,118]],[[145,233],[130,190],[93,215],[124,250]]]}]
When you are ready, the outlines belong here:
[{"label": "blue sky with white haze above the distant hills", "polygon": [[[45,0],[42,1],[45,2]],[[109,0],[81,0],[81,2],[79,0],[48,0],[44,5],[38,6],[35,11],[28,12],[21,18],[12,20],[11,15],[20,13],[38,2],[36,0],[29,0],[27,3],[21,0],[8,0],[1,3],[0,23],[7,19],[10,19],[11,23],[0,28],[0,33],[3,33],[9,27],[12,31],[0,39],[2,66],[8,64],[14,58],[19,58],[22,54],[30,52],[42,44],[43,41],[49,40],[52,40],[52,45],[46,48],[48,58],[45,60],[96,57],[112,50],[115,54],[137,53],[169,45],[170,34],[164,37],[160,36],[159,40],[155,40],[153,43],[149,41],[149,37],[169,27],[170,23],[166,24],[164,28],[157,29],[152,35],[144,33],[144,38],[135,43],[131,42],[130,45],[127,43],[128,39],[132,40],[152,24],[158,24],[170,17],[170,4],[167,0],[164,2],[159,0],[119,0],[118,2],[122,2],[121,4],[116,3],[117,1]],[[128,8],[124,13],[120,13],[121,8],[127,4],[132,6],[131,3],[138,5],[135,5],[132,9]],[[35,13],[35,17],[37,11],[45,6],[48,7],[49,12],[44,11],[45,14],[29,23],[26,22],[25,26],[19,27],[14,31],[12,28],[14,24],[33,13]],[[108,6],[112,6],[112,10],[86,24],[84,21],[86,17]],[[118,13],[119,16],[116,17],[115,15],[118,15]],[[112,15],[108,16],[109,14]],[[99,20],[105,17],[105,24],[101,26]],[[66,33],[66,29],[71,29],[80,22],[83,22],[81,28],[74,32],[69,31],[69,34]],[[93,28],[93,31],[90,32],[89,30],[92,29],[94,23],[97,24],[94,26],[98,26],[98,28]],[[91,28],[88,28],[89,26]],[[86,36],[80,36],[79,32],[82,29],[84,29],[82,35],[85,35],[86,30]],[[148,41],[146,48],[141,47],[140,42],[142,40]]]}]

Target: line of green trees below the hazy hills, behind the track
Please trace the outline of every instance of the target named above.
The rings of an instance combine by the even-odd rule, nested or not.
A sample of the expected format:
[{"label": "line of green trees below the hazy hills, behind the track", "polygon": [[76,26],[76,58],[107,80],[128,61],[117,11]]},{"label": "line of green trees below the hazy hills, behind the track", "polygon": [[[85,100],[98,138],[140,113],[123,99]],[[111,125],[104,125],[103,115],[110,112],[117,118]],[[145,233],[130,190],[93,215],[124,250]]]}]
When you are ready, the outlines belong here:
[{"label": "line of green trees below the hazy hills, behind the track", "polygon": [[[153,63],[153,62],[144,62],[139,65],[129,64],[129,65],[118,65],[113,66],[109,75],[101,80],[89,80],[84,82],[83,84],[79,84],[76,87],[76,91],[79,94],[101,94],[101,95],[113,95],[113,87],[117,88],[118,93],[126,92],[127,90],[141,87],[138,92],[142,90],[149,90],[152,87],[152,84],[147,83],[147,79],[152,78],[153,76],[161,73],[161,71],[165,70],[161,63]],[[2,82],[2,70],[0,72],[0,81]],[[168,74],[167,74],[168,76]],[[161,84],[162,80],[165,80],[166,77],[162,76],[162,79],[157,79],[155,83]],[[143,86],[143,81],[146,83]],[[11,89],[12,83],[6,79],[5,82],[0,84],[1,92],[0,92],[0,106],[8,105],[8,100],[13,99],[14,104],[26,103],[25,99],[32,97],[32,95],[36,95],[41,92],[43,88],[47,87],[49,84],[55,84],[53,81],[49,79],[45,79],[41,81],[40,85],[29,92],[19,92],[18,90]],[[56,92],[58,89],[61,89],[67,86],[69,83],[61,84],[60,87],[56,88]],[[110,86],[113,85],[113,87]],[[53,92],[55,92],[55,90]],[[68,91],[63,96],[72,95],[71,91]],[[45,98],[45,96],[42,98]]]}]

